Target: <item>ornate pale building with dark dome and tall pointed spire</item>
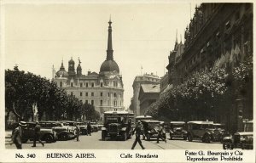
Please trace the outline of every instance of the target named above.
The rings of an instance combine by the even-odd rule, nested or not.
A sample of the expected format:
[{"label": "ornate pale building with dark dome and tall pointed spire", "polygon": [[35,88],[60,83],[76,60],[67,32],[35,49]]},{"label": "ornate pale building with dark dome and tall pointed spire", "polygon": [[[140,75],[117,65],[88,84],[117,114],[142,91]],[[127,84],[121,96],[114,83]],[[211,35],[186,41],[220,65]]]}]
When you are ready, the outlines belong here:
[{"label": "ornate pale building with dark dome and tall pointed spire", "polygon": [[102,63],[100,72],[82,73],[81,61],[75,70],[75,62],[68,61],[68,71],[63,60],[61,68],[55,73],[54,81],[58,87],[63,87],[67,94],[79,98],[83,103],[92,104],[102,115],[108,110],[124,110],[124,85],[119,74],[119,65],[113,60],[112,22],[108,22],[107,59]]}]

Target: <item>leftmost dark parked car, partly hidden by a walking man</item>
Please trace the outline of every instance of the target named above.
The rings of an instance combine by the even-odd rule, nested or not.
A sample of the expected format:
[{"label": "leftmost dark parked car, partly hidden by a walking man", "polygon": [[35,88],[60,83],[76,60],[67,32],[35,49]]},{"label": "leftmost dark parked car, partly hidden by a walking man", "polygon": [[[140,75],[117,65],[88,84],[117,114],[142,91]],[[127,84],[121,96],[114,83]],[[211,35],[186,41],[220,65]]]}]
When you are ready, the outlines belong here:
[{"label": "leftmost dark parked car, partly hidden by a walking man", "polygon": [[[26,122],[26,126],[22,132],[22,139],[21,139],[22,143],[26,143],[28,140],[33,140],[35,126],[36,126],[36,122]],[[53,143],[56,141],[57,136],[56,136],[56,132],[53,129],[41,127],[40,138],[46,143]]]}]

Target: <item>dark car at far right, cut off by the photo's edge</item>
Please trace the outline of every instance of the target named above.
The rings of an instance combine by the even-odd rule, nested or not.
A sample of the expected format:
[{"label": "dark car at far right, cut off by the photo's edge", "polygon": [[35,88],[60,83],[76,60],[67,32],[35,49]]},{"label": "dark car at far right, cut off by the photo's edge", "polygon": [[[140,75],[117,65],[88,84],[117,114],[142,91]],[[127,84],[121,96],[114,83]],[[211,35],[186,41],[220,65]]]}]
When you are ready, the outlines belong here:
[{"label": "dark car at far right, cut off by the photo's edge", "polygon": [[253,121],[244,121],[244,132],[224,137],[223,149],[253,149]]}]

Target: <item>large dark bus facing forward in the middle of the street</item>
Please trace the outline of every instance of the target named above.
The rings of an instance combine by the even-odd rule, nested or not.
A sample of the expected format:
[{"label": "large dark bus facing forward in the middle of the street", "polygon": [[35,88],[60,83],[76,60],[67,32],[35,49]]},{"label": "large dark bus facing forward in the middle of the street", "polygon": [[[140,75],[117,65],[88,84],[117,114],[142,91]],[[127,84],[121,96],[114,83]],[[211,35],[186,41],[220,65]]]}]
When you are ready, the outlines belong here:
[{"label": "large dark bus facing forward in the middle of the street", "polygon": [[134,114],[127,111],[104,112],[104,126],[102,127],[102,140],[106,138],[121,138],[126,140],[132,136],[132,127],[128,124]]}]

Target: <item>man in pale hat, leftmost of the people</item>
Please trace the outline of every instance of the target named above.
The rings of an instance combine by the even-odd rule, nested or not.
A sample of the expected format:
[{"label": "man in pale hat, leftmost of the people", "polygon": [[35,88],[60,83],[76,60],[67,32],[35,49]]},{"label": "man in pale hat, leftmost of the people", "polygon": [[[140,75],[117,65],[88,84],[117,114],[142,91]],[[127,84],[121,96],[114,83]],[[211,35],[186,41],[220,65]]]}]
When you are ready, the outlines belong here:
[{"label": "man in pale hat, leftmost of the people", "polygon": [[25,126],[26,122],[20,121],[19,126],[12,132],[12,142],[15,143],[17,149],[22,149],[22,130]]}]

